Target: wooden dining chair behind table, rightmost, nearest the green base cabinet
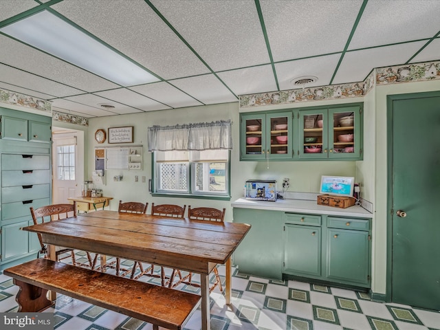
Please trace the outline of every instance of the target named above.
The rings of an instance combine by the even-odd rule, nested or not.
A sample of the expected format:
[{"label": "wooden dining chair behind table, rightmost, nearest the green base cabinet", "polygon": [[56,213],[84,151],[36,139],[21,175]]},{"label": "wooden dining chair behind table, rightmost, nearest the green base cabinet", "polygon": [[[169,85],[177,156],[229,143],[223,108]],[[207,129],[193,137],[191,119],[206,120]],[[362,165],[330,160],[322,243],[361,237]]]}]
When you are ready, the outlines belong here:
[{"label": "wooden dining chair behind table, rightmost, nearest the green base cabinet", "polygon": [[[215,222],[223,222],[225,219],[225,208],[223,210],[218,210],[217,208],[191,208],[188,206],[188,218],[192,220],[201,220],[201,221],[215,221]],[[212,270],[214,272],[215,281],[210,286],[209,292],[219,286],[220,292],[223,292],[223,287],[221,286],[221,278],[219,275],[219,271],[217,270],[217,266]],[[171,276],[173,277],[173,276]],[[170,287],[177,287],[180,283],[184,283],[186,285],[192,285],[193,287],[200,287],[199,283],[192,282],[192,273],[180,277],[179,281],[170,285]]]}]

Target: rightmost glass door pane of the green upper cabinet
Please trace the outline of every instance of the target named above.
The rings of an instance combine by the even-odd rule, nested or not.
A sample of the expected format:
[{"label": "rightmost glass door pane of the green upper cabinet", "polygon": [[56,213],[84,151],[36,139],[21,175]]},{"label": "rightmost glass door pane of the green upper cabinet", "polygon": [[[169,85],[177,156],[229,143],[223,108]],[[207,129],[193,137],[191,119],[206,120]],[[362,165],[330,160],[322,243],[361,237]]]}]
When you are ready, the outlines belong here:
[{"label": "rightmost glass door pane of the green upper cabinet", "polygon": [[355,115],[353,112],[333,114],[333,153],[354,153]]}]

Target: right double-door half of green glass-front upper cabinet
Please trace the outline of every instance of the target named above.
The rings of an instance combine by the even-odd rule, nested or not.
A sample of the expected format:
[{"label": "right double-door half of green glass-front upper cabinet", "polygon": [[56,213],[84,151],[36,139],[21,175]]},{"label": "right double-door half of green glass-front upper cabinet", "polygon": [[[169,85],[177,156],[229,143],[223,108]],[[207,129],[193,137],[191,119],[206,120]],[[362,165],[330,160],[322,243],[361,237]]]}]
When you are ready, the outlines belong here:
[{"label": "right double-door half of green glass-front upper cabinet", "polygon": [[362,159],[362,105],[301,110],[300,159]]}]

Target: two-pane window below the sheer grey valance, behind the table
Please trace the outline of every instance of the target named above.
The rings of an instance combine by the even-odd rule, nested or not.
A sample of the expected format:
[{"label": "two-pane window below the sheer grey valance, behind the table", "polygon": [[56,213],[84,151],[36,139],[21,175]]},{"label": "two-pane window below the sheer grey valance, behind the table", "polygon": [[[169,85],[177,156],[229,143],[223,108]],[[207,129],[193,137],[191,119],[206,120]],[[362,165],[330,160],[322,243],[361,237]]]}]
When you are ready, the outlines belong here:
[{"label": "two-pane window below the sheer grey valance, behind the table", "polygon": [[229,196],[229,151],[155,151],[155,192]]}]

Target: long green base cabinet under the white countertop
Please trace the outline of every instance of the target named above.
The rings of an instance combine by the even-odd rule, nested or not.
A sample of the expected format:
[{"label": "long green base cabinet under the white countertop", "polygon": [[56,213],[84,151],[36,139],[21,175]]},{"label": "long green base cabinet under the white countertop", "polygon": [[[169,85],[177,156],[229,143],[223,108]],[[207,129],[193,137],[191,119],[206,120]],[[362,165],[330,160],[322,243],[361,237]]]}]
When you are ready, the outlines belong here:
[{"label": "long green base cabinet under the white countertop", "polygon": [[234,252],[239,272],[371,287],[371,219],[234,208],[250,232]]}]

